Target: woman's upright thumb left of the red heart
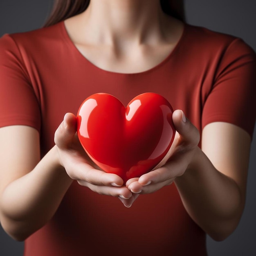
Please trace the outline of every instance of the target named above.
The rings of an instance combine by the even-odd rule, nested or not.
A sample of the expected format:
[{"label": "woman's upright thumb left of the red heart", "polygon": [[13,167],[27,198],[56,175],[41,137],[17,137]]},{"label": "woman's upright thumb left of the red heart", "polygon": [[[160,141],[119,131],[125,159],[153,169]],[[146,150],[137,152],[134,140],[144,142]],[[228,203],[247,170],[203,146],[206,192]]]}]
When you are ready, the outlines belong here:
[{"label": "woman's upright thumb left of the red heart", "polygon": [[66,148],[72,143],[75,134],[76,116],[72,113],[66,113],[54,134],[54,143],[58,148]]}]

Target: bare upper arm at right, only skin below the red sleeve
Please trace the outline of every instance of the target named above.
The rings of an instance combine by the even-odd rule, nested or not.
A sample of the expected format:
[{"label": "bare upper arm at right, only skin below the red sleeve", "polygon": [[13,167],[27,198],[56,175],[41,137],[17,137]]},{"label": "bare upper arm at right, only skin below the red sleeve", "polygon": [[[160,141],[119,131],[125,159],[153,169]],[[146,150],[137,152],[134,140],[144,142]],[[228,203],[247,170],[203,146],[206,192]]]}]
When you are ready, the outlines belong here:
[{"label": "bare upper arm at right, only skin below the red sleeve", "polygon": [[202,131],[202,151],[213,166],[233,179],[245,198],[251,137],[242,128],[213,122]]}]

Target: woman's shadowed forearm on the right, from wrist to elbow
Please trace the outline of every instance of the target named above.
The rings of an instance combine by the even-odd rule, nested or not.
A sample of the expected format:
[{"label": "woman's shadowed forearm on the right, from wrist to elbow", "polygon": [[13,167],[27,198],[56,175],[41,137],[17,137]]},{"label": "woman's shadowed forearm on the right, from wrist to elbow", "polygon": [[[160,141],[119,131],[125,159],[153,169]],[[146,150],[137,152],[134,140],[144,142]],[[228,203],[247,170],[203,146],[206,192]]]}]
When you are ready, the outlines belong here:
[{"label": "woman's shadowed forearm on the right, from wrist to elbow", "polygon": [[197,148],[194,161],[175,179],[186,210],[215,240],[223,240],[238,225],[245,204],[236,182],[220,173]]}]

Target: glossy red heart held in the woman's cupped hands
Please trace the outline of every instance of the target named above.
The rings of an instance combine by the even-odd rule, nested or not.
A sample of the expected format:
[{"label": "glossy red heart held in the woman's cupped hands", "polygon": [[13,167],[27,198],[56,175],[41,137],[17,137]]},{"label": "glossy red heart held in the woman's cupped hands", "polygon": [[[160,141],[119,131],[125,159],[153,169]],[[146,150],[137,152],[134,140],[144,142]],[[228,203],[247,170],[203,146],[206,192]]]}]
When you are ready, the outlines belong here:
[{"label": "glossy red heart held in the woman's cupped hands", "polygon": [[140,94],[125,108],[114,96],[97,93],[80,106],[77,133],[90,158],[126,182],[164,158],[175,135],[172,114],[170,103],[159,94]]}]

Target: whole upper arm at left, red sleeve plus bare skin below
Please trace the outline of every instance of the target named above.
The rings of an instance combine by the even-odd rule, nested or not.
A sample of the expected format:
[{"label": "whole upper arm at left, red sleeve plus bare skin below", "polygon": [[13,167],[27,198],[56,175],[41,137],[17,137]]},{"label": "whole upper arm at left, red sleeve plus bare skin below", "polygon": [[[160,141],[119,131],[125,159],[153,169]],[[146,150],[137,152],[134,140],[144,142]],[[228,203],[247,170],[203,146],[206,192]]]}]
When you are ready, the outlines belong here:
[{"label": "whole upper arm at left, red sleeve plus bare skin below", "polygon": [[40,159],[40,101],[14,38],[0,38],[0,193]]}]

